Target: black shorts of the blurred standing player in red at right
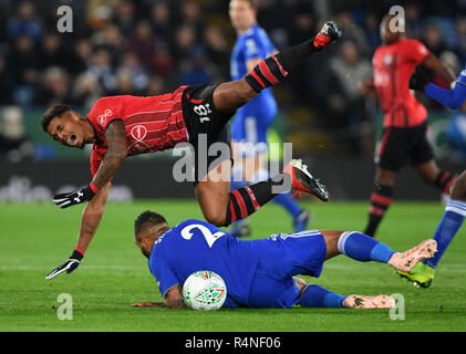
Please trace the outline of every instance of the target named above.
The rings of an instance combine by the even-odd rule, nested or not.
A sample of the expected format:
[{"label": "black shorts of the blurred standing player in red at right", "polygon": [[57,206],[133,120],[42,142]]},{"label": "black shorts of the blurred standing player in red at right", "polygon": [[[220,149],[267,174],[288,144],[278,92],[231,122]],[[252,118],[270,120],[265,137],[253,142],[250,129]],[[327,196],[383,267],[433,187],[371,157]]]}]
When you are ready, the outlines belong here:
[{"label": "black shorts of the blurred standing player in red at right", "polygon": [[427,123],[412,127],[384,127],[375,150],[379,167],[397,171],[407,162],[418,165],[434,159],[427,140]]}]

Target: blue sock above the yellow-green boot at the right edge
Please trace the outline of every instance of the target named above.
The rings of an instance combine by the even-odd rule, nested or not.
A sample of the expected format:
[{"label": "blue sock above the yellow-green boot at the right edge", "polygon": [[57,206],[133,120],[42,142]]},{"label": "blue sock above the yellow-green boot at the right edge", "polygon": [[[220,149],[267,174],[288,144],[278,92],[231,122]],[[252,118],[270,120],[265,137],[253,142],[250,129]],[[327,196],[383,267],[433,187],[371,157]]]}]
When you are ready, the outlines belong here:
[{"label": "blue sock above the yellow-green boot at the right edge", "polygon": [[446,205],[444,216],[442,217],[441,223],[435,230],[433,239],[437,241],[437,252],[433,258],[424,261],[424,264],[435,268],[437,267],[442,256],[459,230],[463,220],[466,217],[466,202],[460,200],[449,200]]}]

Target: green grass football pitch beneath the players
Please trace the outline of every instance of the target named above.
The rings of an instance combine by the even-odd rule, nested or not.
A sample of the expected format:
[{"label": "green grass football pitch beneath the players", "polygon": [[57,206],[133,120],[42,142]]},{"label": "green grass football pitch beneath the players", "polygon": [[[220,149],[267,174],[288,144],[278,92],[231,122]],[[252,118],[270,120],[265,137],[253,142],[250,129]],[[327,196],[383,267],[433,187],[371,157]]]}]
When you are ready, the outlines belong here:
[{"label": "green grass football pitch beneath the players", "polygon": [[[369,201],[301,201],[313,212],[310,229],[362,230]],[[101,227],[80,268],[50,281],[45,274],[75,247],[82,207],[60,210],[50,204],[0,204],[0,331],[156,331],[156,332],[321,332],[465,331],[466,229],[459,230],[437,268],[431,288],[416,289],[385,264],[339,256],[319,279],[348,294],[401,294],[404,320],[389,310],[302,309],[228,310],[133,309],[139,301],[162,301],[146,259],[134,244],[133,222],[151,209],[170,225],[200,218],[195,200],[138,200],[108,204]],[[395,201],[377,239],[404,251],[432,237],[442,218],[439,202]],[[290,232],[290,218],[270,204],[250,218],[251,238]],[[72,320],[58,316],[60,294],[73,301]],[[400,309],[398,309],[400,310]],[[400,314],[400,311],[397,312]]]}]

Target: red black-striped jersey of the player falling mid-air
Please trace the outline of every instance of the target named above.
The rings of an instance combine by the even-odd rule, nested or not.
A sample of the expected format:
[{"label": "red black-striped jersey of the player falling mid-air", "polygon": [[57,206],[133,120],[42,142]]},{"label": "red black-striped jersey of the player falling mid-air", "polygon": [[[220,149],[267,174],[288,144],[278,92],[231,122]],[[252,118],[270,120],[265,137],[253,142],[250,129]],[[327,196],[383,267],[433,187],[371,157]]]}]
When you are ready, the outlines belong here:
[{"label": "red black-striped jersey of the player falling mid-air", "polygon": [[100,98],[87,114],[95,128],[97,142],[91,155],[94,176],[105,156],[105,129],[120,119],[125,125],[128,155],[147,154],[174,147],[188,140],[182,96],[187,86],[159,96],[108,96]]}]

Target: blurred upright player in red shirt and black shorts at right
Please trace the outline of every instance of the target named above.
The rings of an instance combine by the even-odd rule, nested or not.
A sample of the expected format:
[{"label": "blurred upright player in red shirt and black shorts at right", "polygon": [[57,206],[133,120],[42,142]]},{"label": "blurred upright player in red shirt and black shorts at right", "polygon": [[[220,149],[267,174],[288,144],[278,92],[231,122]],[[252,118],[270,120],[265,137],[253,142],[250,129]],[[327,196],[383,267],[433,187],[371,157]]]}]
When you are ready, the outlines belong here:
[{"label": "blurred upright player in red shirt and black shorts at right", "polygon": [[[420,64],[439,74],[446,82],[454,74],[417,40],[395,30],[394,15],[381,22],[383,44],[374,53],[374,76],[362,83],[363,94],[375,91],[384,113],[382,138],[375,152],[375,189],[371,195],[369,222],[364,233],[374,236],[393,201],[393,186],[400,168],[408,158],[421,176],[448,194],[455,177],[437,167],[426,138],[427,111],[408,88],[410,75]],[[404,21],[404,20],[403,20]],[[392,23],[392,25],[391,25]],[[398,23],[400,24],[400,23]],[[393,31],[392,31],[392,29]]]}]

